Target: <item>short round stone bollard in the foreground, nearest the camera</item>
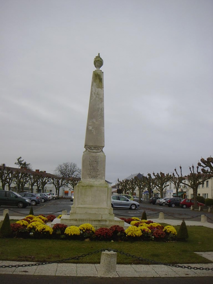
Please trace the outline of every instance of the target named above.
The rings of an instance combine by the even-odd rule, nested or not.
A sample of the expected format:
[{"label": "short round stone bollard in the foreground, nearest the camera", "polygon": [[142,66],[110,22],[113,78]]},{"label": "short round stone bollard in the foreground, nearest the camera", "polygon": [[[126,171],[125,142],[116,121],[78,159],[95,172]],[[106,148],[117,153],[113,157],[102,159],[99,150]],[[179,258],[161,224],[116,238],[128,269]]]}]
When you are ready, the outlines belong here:
[{"label": "short round stone bollard in the foreground, nearest the camera", "polygon": [[118,277],[116,273],[117,252],[105,250],[101,253],[100,267],[98,276]]}]

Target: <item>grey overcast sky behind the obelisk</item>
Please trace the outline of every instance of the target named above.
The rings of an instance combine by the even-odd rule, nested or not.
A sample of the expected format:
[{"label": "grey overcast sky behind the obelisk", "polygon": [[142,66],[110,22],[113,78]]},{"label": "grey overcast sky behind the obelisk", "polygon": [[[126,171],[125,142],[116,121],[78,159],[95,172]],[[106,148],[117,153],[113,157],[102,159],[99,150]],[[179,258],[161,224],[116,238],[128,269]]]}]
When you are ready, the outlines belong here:
[{"label": "grey overcast sky behind the obelisk", "polygon": [[104,60],[106,179],[213,154],[212,0],[1,0],[0,163],[81,168]]}]

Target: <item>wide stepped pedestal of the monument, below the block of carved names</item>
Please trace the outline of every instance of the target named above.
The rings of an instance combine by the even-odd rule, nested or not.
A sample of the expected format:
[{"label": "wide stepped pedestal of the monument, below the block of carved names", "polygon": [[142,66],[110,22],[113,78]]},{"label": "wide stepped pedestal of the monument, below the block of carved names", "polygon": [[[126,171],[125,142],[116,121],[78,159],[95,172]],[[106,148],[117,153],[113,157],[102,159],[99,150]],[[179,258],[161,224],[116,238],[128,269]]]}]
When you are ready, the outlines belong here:
[{"label": "wide stepped pedestal of the monument, below the block of carved names", "polygon": [[125,225],[123,220],[116,218],[113,214],[111,187],[107,182],[82,180],[75,186],[70,214],[62,215],[61,223],[68,226],[90,223],[95,229]]}]

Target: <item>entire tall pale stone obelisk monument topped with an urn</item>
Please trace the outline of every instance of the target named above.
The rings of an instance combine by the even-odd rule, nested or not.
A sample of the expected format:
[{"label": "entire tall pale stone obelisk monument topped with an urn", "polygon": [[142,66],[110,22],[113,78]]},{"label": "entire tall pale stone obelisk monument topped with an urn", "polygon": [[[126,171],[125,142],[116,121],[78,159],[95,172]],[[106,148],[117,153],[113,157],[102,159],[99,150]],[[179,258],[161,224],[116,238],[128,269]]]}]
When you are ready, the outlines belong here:
[{"label": "entire tall pale stone obelisk monument topped with an urn", "polygon": [[61,223],[79,226],[90,223],[95,228],[124,226],[114,217],[111,208],[111,187],[105,181],[106,156],[104,148],[104,74],[103,60],[95,57],[90,102],[82,157],[81,181],[74,188],[74,203],[70,215],[62,215]]}]

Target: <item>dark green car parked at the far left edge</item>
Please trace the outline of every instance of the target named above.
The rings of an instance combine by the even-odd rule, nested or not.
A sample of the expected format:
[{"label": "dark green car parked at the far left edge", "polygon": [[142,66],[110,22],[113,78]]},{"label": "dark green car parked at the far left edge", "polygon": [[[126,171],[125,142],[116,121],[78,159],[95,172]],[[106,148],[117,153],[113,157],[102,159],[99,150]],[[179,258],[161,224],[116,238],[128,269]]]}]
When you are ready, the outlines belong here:
[{"label": "dark green car parked at the far left edge", "polygon": [[18,206],[18,208],[25,208],[31,205],[31,201],[14,191],[0,190],[0,206],[1,205],[13,205]]}]

